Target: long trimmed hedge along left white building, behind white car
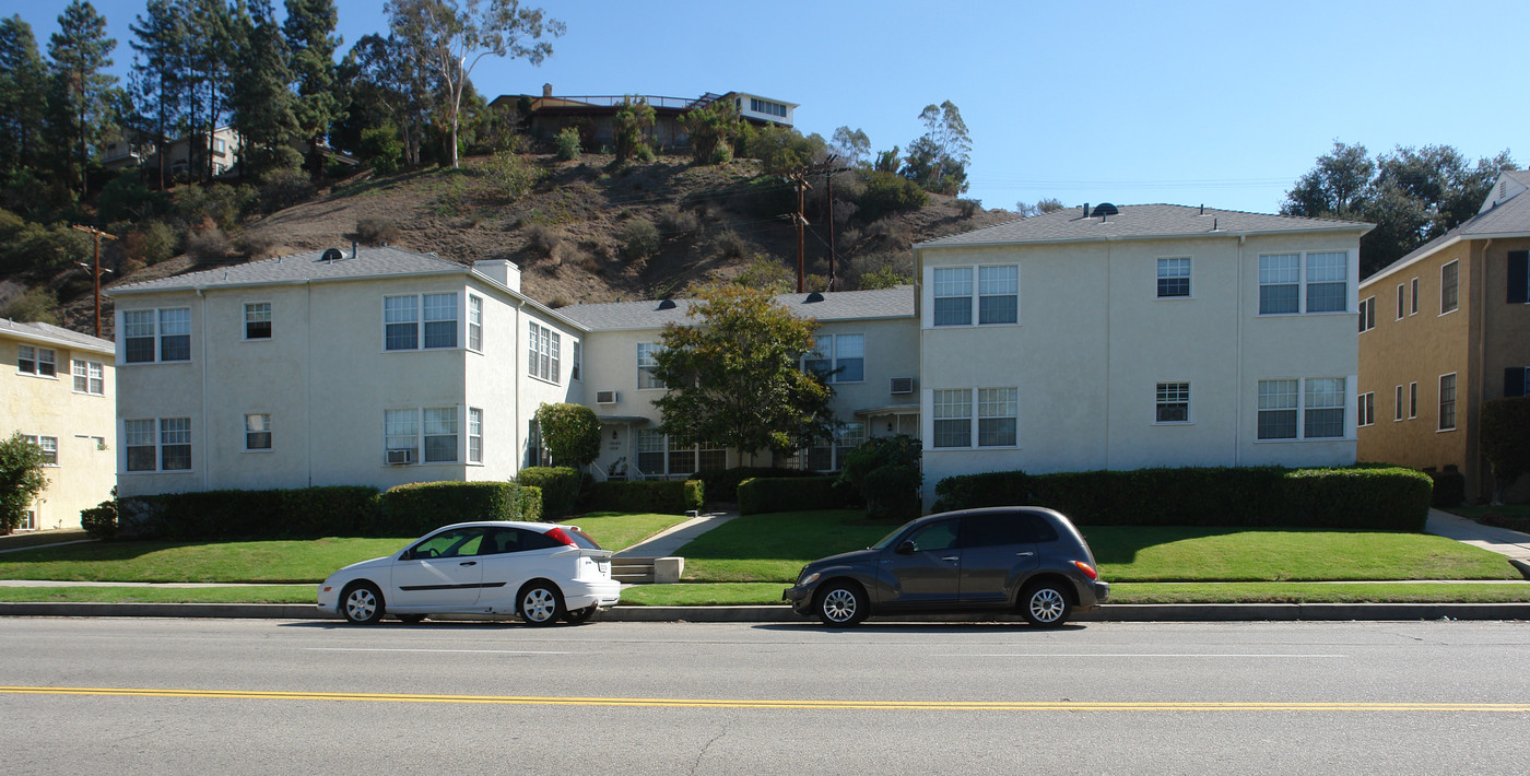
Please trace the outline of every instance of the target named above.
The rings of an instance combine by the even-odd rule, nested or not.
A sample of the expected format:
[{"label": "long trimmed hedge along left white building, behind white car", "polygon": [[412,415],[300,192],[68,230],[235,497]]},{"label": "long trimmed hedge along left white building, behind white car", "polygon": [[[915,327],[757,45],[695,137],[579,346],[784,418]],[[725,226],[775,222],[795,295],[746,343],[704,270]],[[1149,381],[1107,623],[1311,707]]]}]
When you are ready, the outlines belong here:
[{"label": "long trimmed hedge along left white building, behind white car", "polygon": [[101,537],[291,539],[413,536],[462,520],[536,520],[542,491],[514,482],[418,482],[386,493],[361,485],[210,490],[132,496],[83,513]]}]

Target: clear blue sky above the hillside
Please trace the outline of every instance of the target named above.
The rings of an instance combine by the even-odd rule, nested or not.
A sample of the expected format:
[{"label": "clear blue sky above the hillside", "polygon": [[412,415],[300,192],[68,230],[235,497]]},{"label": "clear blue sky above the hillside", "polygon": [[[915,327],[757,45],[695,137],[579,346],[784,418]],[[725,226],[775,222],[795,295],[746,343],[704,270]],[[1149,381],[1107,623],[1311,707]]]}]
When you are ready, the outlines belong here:
[{"label": "clear blue sky above the hillside", "polygon": [[[532,0],[534,2],[534,0]],[[0,0],[47,46],[63,0]],[[132,61],[142,0],[96,0]],[[282,3],[277,2],[278,12]],[[346,43],[381,0],[340,0]],[[532,67],[485,58],[485,95],[741,90],[797,103],[797,129],[907,147],[950,99],[985,207],[1206,204],[1273,213],[1334,139],[1372,153],[1449,144],[1530,161],[1518,38],[1530,3],[696,2],[543,3],[568,23]]]}]

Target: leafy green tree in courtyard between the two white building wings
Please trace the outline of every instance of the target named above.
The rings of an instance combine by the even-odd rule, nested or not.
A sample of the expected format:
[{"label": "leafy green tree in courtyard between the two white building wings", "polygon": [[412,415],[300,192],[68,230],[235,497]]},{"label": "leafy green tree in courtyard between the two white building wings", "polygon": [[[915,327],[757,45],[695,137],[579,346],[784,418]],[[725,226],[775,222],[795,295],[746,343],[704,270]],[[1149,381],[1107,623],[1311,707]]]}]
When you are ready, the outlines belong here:
[{"label": "leafy green tree in courtyard between the two white building wings", "polygon": [[664,328],[653,370],[669,386],[653,406],[675,442],[753,455],[797,450],[832,433],[832,392],[800,367],[815,321],[736,285],[704,289],[685,314],[695,324]]}]

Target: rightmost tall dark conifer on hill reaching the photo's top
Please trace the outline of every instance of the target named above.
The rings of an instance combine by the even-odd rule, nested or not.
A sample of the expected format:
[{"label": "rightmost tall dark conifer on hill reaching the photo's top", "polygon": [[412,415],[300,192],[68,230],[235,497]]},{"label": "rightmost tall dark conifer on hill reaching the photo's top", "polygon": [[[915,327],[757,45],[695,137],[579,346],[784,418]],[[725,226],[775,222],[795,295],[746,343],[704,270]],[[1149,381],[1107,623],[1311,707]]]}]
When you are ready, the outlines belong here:
[{"label": "rightmost tall dark conifer on hill reaching the photo's top", "polygon": [[330,124],[344,118],[335,83],[335,51],[343,38],[335,35],[338,14],[334,0],[286,0],[288,17],[282,32],[291,47],[297,104],[292,118],[297,135],[309,144],[309,167],[323,165],[320,144]]}]

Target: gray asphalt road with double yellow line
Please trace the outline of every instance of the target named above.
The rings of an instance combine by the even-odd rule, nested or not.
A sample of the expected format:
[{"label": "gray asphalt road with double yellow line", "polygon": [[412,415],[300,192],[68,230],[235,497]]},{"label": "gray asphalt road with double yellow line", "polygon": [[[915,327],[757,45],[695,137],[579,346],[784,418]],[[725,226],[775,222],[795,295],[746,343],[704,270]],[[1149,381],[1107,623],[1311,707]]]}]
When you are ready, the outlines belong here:
[{"label": "gray asphalt road with double yellow line", "polygon": [[1527,773],[1524,623],[0,620],[21,773]]}]

